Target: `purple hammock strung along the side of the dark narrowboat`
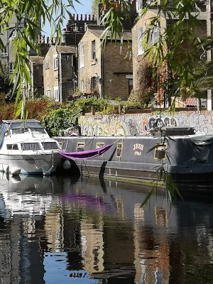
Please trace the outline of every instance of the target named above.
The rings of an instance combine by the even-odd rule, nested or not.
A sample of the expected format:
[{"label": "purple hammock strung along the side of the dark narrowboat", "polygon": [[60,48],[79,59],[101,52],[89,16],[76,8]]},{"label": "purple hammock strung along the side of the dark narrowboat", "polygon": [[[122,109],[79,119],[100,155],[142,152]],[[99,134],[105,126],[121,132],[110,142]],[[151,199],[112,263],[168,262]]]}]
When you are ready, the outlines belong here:
[{"label": "purple hammock strung along the side of the dark narrowboat", "polygon": [[109,150],[109,148],[113,145],[109,144],[106,145],[102,148],[94,149],[94,150],[89,150],[89,151],[82,151],[82,152],[59,152],[60,155],[62,155],[65,158],[69,158],[72,160],[86,160],[86,159],[91,159],[94,157],[97,157],[98,155],[103,155],[104,152]]}]

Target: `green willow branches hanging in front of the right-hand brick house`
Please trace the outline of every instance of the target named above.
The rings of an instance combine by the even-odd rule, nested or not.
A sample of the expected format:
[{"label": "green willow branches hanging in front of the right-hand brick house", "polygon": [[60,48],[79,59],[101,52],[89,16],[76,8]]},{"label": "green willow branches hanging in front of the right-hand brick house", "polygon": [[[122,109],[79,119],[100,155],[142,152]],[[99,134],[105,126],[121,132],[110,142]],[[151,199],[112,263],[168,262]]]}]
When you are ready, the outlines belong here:
[{"label": "green willow branches hanging in front of the right-hand brick house", "polygon": [[[108,27],[107,32],[121,38],[124,35],[122,26],[122,15],[129,16],[129,2],[125,0],[116,2],[102,0],[102,4],[110,5],[110,9],[104,17],[104,23]],[[196,28],[200,26],[198,15],[200,8],[195,0],[153,0],[147,1],[141,12],[144,16],[148,9],[158,6],[155,9],[156,16],[151,18],[151,25],[143,36],[143,45],[146,49],[146,57],[153,64],[153,77],[158,80],[159,101],[163,97],[163,92],[168,90],[167,70],[172,77],[172,87],[170,83],[170,95],[181,96],[183,99],[190,97],[190,87],[195,82],[195,67],[200,61],[200,54],[203,53],[206,38],[200,38],[196,33]],[[158,43],[149,47],[148,40],[153,34],[153,28],[163,28],[160,26],[160,17],[169,19],[169,25],[160,34]],[[187,20],[186,20],[187,19]]]}]

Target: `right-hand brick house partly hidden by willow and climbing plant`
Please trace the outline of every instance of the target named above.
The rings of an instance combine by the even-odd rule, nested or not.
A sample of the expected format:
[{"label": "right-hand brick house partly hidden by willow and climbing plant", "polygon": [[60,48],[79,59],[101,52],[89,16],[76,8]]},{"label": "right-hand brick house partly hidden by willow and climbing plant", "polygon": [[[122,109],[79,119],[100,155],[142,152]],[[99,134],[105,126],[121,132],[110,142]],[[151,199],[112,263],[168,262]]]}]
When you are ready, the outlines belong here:
[{"label": "right-hand brick house partly hidden by willow and climbing plant", "polygon": [[[160,2],[160,0],[159,0]],[[136,0],[136,9],[140,15],[143,9],[143,0]],[[152,9],[149,9],[147,13],[140,18],[135,23],[132,28],[132,54],[133,54],[133,89],[141,88],[141,80],[138,75],[141,65],[147,60],[145,58],[145,51],[143,48],[142,40],[144,33],[150,26],[151,20],[153,17],[158,14],[158,6],[153,6]],[[207,11],[204,5],[200,4],[200,13],[198,16],[200,20],[200,26],[196,27],[197,35],[204,37],[207,35]],[[154,45],[158,42],[160,34],[163,34],[165,28],[169,25],[169,18],[165,18],[162,14],[160,16],[160,25],[153,29],[151,37],[148,39],[148,46]],[[175,20],[174,20],[175,21]],[[139,71],[138,71],[139,70]],[[168,102],[165,102],[165,107],[168,107]],[[156,106],[157,107],[157,106]]]}]

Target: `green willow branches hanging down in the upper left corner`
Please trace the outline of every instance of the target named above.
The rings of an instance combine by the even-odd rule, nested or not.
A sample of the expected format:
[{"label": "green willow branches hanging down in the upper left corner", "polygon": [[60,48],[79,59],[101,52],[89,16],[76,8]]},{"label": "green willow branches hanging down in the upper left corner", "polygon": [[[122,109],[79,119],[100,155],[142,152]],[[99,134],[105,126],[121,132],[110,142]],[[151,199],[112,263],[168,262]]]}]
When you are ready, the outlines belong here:
[{"label": "green willow branches hanging down in the upper left corner", "polygon": [[[62,23],[66,13],[73,8],[73,2],[78,2],[78,0],[0,0],[0,33],[9,34],[6,45],[0,40],[0,50],[4,52],[10,45],[14,51],[15,63],[11,82],[14,80],[13,94],[16,94],[16,104],[21,97],[25,96],[21,93],[23,82],[31,84],[28,50],[32,49],[40,54],[36,38],[46,21],[50,22],[51,33],[57,36],[58,43],[60,43]],[[17,18],[16,26],[13,25],[13,17]],[[23,99],[23,103],[20,104],[24,107],[24,103]],[[19,109],[16,116],[21,113],[23,114],[23,111],[20,112]]]}]

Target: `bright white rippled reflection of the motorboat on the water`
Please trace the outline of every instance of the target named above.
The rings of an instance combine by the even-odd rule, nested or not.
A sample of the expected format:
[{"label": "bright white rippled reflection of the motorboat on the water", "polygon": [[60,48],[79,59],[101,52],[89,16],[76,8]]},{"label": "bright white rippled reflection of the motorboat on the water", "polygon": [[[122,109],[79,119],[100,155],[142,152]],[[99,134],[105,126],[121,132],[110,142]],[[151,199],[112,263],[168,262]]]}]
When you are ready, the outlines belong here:
[{"label": "bright white rippled reflection of the motorboat on the water", "polygon": [[43,215],[50,208],[53,196],[39,192],[46,189],[51,193],[50,178],[2,175],[0,182],[0,212],[4,217]]}]

